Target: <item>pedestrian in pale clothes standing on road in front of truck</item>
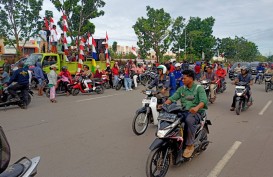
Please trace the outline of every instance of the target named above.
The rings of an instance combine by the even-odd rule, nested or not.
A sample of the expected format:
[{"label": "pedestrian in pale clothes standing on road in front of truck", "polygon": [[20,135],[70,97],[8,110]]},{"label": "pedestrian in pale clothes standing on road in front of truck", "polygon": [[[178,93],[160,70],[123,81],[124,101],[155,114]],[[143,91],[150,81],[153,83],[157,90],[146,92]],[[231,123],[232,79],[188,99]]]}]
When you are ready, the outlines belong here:
[{"label": "pedestrian in pale clothes standing on road in front of truck", "polygon": [[56,103],[56,86],[57,86],[57,66],[51,65],[50,66],[50,72],[47,74],[47,78],[48,78],[48,87],[50,88],[50,101],[51,103]]}]

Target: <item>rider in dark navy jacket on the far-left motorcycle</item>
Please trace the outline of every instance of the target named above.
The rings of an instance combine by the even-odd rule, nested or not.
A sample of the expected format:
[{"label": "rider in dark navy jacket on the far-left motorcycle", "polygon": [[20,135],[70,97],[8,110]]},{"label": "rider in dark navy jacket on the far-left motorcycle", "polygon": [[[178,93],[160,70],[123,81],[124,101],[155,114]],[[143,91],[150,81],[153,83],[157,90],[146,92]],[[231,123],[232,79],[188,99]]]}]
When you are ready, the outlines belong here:
[{"label": "rider in dark navy jacket on the far-left motorcycle", "polygon": [[[12,84],[13,82],[16,83]],[[20,100],[16,91],[21,90],[23,92],[23,101],[24,103],[27,103],[28,101],[27,90],[29,89],[29,74],[28,68],[24,67],[24,63],[21,62],[18,64],[18,69],[14,71],[9,82],[5,85],[9,86],[8,92],[12,96],[12,98],[10,99],[11,102]],[[26,105],[24,105],[24,108],[26,108]]]}]

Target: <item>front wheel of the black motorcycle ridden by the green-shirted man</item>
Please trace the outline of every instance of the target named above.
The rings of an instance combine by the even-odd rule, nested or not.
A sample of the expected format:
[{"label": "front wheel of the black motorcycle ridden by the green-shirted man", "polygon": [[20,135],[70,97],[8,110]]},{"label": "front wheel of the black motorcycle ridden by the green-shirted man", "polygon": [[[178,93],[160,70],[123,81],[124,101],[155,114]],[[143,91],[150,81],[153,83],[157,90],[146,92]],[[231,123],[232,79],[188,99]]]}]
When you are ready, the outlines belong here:
[{"label": "front wheel of the black motorcycle ridden by the green-shirted man", "polygon": [[146,162],[147,177],[164,177],[167,174],[170,156],[166,153],[168,152],[163,148],[156,148],[150,152]]}]

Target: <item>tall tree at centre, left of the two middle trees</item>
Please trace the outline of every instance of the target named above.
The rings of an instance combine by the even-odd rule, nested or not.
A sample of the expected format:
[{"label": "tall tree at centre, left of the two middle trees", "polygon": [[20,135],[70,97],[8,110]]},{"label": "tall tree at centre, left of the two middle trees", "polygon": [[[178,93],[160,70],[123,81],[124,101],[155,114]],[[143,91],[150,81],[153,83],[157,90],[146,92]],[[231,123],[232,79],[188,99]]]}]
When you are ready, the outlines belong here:
[{"label": "tall tree at centre, left of the two middle trees", "polygon": [[157,61],[163,56],[170,46],[171,16],[163,8],[153,9],[146,7],[148,18],[138,18],[133,29],[138,37],[137,45],[141,57],[147,56],[148,51],[153,49]]}]

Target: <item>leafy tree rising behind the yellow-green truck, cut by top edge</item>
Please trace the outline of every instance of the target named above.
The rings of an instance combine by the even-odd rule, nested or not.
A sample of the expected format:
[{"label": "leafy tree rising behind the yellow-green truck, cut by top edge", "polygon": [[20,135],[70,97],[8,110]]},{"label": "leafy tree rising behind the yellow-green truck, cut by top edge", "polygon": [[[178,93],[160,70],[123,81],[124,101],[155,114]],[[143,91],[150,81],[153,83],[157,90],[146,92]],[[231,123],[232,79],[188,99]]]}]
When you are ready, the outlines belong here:
[{"label": "leafy tree rising behind the yellow-green truck, cut by top edge", "polygon": [[[50,0],[59,12],[65,12],[68,23],[68,35],[75,43],[75,38],[95,33],[95,25],[89,20],[104,15],[100,8],[105,6],[102,0]],[[62,28],[62,19],[59,26]]]}]

